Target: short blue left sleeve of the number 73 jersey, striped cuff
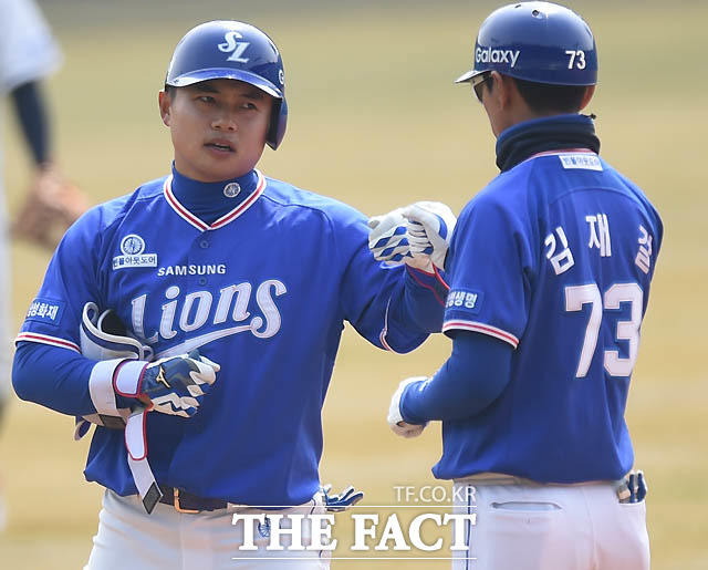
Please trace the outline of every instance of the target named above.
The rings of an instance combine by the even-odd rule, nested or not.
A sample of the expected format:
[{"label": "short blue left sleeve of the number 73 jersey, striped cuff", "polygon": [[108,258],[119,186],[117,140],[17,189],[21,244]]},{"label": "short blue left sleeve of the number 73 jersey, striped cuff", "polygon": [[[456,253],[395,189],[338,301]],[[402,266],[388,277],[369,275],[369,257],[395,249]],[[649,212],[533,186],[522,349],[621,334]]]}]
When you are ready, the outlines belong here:
[{"label": "short blue left sleeve of the number 73 jersey, striped cuff", "polygon": [[481,194],[462,211],[448,252],[442,332],[479,332],[519,345],[530,304],[529,229],[499,200]]}]

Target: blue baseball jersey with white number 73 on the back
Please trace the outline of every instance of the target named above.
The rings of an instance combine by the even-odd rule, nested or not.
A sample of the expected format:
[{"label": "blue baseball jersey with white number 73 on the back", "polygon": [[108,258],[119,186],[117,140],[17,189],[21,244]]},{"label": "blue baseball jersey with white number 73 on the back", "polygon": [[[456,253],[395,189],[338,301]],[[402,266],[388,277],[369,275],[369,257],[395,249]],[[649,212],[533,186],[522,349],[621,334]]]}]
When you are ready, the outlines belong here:
[{"label": "blue baseball jersey with white number 73 on the back", "polygon": [[514,353],[491,405],[444,422],[437,477],[580,483],[631,469],[624,411],[662,234],[642,190],[587,149],[531,156],[465,207],[442,330]]}]

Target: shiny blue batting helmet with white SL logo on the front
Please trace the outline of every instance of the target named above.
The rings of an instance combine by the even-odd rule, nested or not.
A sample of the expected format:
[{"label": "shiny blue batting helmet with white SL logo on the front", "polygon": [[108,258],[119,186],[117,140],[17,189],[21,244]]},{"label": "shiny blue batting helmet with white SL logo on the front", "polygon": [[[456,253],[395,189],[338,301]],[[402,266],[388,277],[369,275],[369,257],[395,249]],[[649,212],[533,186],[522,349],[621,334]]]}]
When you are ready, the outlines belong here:
[{"label": "shiny blue batting helmet with white SL logo on the front", "polygon": [[238,80],[264,91],[275,101],[266,142],[275,149],[285,135],[285,72],[273,41],[243,22],[218,20],[189,30],[169,62],[165,85],[185,87],[200,81]]}]

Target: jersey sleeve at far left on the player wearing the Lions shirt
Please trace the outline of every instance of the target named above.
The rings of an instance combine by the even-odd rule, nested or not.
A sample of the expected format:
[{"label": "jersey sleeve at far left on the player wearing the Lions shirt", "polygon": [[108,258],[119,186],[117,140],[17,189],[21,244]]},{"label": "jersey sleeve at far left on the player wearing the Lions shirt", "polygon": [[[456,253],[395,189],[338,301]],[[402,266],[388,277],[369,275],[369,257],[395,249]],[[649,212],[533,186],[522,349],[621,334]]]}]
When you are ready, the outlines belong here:
[{"label": "jersey sleeve at far left on the player wearing the Lions shirt", "polygon": [[100,294],[102,210],[93,208],[64,235],[44,281],[30,304],[15,342],[30,341],[80,352],[85,303],[105,303]]}]

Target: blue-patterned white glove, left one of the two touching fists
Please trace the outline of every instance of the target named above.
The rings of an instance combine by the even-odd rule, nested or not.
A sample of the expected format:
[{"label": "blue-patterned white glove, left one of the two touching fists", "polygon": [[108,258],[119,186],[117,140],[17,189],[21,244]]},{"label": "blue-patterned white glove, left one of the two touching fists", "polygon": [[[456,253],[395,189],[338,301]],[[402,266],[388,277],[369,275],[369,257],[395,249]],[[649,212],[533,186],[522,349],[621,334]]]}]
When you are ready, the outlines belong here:
[{"label": "blue-patterned white glove, left one of the two touching fists", "polygon": [[[408,220],[403,216],[403,208],[397,208],[383,216],[373,216],[368,220],[368,249],[376,261],[389,266],[406,263],[417,269],[433,271],[429,256],[414,256],[408,243]],[[430,247],[431,243],[429,243]]]}]

